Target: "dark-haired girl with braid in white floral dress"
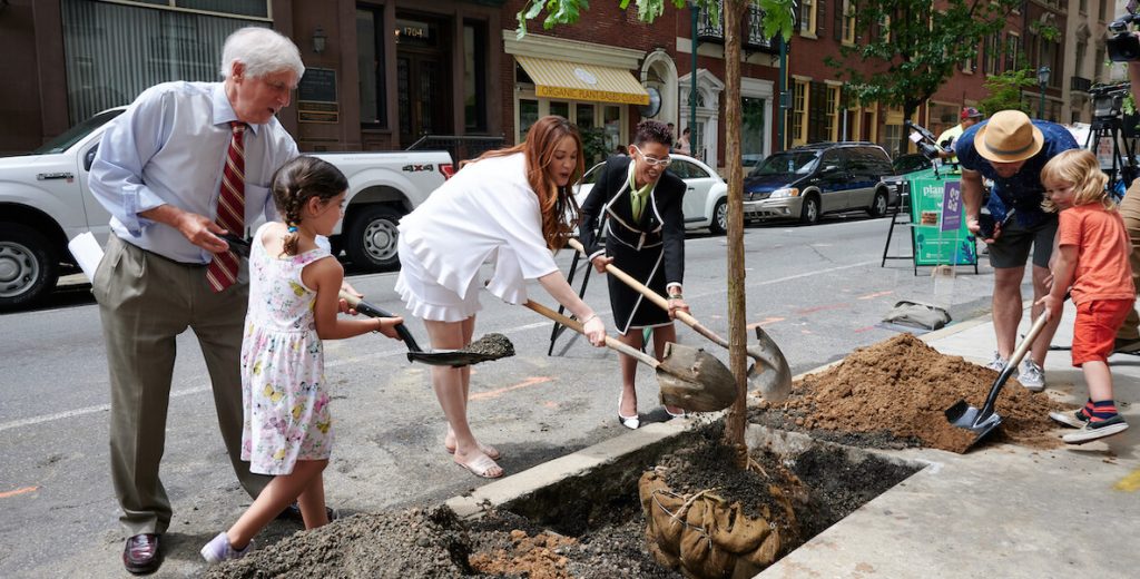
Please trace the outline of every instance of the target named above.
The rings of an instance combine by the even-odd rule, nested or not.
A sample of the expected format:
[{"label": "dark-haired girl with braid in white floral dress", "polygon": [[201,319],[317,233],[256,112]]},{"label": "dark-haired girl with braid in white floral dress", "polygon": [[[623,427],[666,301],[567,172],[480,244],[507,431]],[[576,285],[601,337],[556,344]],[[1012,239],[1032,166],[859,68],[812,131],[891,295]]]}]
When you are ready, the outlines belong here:
[{"label": "dark-haired girl with braid in white floral dress", "polygon": [[402,321],[336,317],[344,270],[316,238],[331,235],[344,217],[345,189],[344,176],[315,157],[298,157],[274,176],[274,202],[286,222],[266,223],[253,236],[242,343],[242,459],[274,480],[202,548],[211,563],[249,553],[253,536],[294,500],[306,529],[328,522],[321,472],[333,430],[321,340],[367,332],[394,339]]}]

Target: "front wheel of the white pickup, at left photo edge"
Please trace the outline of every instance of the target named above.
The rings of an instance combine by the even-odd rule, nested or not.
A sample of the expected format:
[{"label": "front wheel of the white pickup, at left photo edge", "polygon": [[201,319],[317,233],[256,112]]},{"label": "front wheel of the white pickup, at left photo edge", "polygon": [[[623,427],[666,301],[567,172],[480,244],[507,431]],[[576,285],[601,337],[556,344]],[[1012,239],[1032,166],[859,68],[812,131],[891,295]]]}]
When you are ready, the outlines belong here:
[{"label": "front wheel of the white pickup, at left photo edge", "polygon": [[0,223],[0,311],[30,305],[56,287],[56,253],[35,229]]}]

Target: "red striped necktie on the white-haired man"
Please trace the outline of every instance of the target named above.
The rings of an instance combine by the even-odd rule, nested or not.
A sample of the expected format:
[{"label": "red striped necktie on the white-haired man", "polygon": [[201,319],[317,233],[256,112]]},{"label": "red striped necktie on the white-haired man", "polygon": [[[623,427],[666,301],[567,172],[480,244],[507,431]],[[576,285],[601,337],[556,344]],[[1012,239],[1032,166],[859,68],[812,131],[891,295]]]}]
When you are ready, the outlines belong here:
[{"label": "red striped necktie on the white-haired man", "polygon": [[[221,172],[221,190],[218,193],[218,218],[215,221],[230,234],[245,235],[245,123],[230,121],[233,137],[226,152],[226,166]],[[231,251],[214,253],[206,268],[206,282],[214,292],[221,292],[237,282],[241,267],[237,254]]]}]

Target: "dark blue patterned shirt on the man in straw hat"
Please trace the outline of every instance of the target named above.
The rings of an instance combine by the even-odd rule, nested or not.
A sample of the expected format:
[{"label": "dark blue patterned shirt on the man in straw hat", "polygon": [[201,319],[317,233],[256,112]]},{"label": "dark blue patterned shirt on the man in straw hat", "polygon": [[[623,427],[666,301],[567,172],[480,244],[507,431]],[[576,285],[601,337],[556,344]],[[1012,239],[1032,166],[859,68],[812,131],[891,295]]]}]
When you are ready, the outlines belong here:
[{"label": "dark blue patterned shirt on the man in straw hat", "polygon": [[990,190],[990,214],[997,221],[1005,219],[1010,209],[1017,210],[1013,217],[1017,222],[1025,227],[1040,225],[1049,219],[1057,219],[1053,214],[1045,213],[1041,209],[1041,202],[1045,199],[1045,187],[1041,185],[1041,170],[1050,158],[1053,158],[1062,150],[1077,148],[1076,139],[1068,129],[1049,121],[1033,121],[1033,125],[1041,130],[1045,138],[1044,145],[1036,155],[1029,157],[1021,170],[1010,178],[999,177],[990,161],[978,154],[974,148],[974,136],[978,129],[986,125],[988,121],[975,124],[966,130],[961,137],[954,141],[954,152],[962,169],[977,171],[982,177],[994,182]]}]

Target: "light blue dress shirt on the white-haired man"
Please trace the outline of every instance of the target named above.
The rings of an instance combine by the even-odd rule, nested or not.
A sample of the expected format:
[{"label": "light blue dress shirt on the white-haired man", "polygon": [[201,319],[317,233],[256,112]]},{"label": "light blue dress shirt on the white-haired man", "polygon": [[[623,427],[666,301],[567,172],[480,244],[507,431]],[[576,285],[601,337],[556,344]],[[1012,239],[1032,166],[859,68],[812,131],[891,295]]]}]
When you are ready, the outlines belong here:
[{"label": "light blue dress shirt on the white-haired man", "polygon": [[[169,204],[214,219],[231,121],[237,114],[220,82],[166,82],[144,91],[111,122],[91,164],[91,193],[111,212],[112,231],[174,261],[209,263],[212,253],[139,213]],[[270,179],[298,156],[296,141],[274,117],[249,125],[244,148],[245,223],[276,220]]]}]

